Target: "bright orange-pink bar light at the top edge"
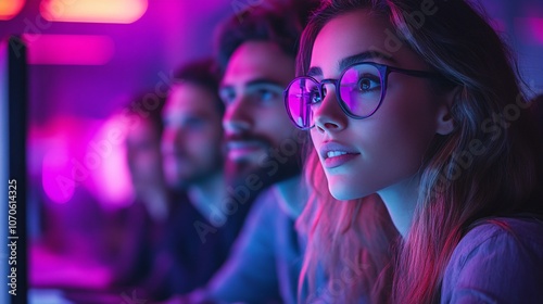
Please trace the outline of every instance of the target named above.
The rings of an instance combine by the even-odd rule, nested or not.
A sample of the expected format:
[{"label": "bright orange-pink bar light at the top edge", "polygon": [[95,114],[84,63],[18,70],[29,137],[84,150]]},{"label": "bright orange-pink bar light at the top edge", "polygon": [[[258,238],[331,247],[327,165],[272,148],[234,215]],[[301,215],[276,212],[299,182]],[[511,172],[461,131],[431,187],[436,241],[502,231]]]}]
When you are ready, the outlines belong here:
[{"label": "bright orange-pink bar light at the top edge", "polygon": [[147,0],[42,0],[40,12],[56,22],[132,23],[147,8]]}]

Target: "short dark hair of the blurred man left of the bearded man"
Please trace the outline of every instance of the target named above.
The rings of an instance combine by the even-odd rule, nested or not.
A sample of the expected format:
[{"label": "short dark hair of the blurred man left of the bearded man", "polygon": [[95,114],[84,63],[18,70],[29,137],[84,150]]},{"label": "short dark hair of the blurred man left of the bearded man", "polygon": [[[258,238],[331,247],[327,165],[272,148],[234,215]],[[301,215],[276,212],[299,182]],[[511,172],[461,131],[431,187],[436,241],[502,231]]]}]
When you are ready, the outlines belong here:
[{"label": "short dark hair of the blurred man left of the bearded man", "polygon": [[220,71],[211,58],[200,59],[182,65],[174,73],[172,86],[180,83],[189,83],[213,93],[215,105],[220,115],[225,114],[225,104],[218,96],[218,84]]}]

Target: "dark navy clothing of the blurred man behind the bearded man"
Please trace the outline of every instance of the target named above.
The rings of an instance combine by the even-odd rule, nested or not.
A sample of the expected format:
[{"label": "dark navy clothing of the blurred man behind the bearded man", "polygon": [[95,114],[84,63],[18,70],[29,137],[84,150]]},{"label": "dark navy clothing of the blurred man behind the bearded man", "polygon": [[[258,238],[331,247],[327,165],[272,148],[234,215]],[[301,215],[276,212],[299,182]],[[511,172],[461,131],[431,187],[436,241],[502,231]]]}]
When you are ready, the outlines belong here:
[{"label": "dark navy clothing of the blurred man behind the bearded man", "polygon": [[228,256],[252,204],[237,204],[237,211],[228,215],[226,223],[215,227],[186,197],[179,203],[165,227],[144,283],[154,300],[188,293],[207,283]]}]

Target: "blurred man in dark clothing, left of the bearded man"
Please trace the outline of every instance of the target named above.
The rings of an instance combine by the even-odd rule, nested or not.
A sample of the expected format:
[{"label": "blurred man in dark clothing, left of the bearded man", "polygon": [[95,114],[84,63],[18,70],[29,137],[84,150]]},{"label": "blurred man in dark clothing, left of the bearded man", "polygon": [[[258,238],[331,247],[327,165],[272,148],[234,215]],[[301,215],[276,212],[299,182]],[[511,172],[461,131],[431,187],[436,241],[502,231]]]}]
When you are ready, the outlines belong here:
[{"label": "blurred man in dark clothing, left of the bearded man", "polygon": [[163,110],[162,152],[167,183],[180,199],[144,287],[162,300],[207,282],[226,259],[250,203],[230,214],[224,176],[218,73],[211,60],[175,75]]}]

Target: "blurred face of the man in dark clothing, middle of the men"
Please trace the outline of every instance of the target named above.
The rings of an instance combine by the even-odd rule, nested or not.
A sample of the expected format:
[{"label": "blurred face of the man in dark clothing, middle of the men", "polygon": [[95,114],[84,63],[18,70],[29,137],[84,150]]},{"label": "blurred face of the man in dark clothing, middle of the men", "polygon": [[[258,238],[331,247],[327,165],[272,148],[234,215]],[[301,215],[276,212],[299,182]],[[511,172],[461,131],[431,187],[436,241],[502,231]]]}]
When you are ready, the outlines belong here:
[{"label": "blurred face of the man in dark clothing, middle of the men", "polygon": [[163,119],[162,152],[169,185],[184,187],[220,169],[222,117],[213,93],[189,83],[175,85]]}]

